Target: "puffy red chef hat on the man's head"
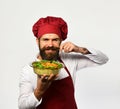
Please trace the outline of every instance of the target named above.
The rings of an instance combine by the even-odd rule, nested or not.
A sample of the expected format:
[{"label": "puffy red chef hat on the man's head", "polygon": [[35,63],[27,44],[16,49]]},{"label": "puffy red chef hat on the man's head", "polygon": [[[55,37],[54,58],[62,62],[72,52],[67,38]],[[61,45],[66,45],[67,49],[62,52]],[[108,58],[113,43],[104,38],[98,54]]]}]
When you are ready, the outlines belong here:
[{"label": "puffy red chef hat on the man's head", "polygon": [[35,37],[40,38],[43,34],[55,33],[62,40],[67,38],[67,23],[60,17],[47,16],[40,18],[32,28]]}]

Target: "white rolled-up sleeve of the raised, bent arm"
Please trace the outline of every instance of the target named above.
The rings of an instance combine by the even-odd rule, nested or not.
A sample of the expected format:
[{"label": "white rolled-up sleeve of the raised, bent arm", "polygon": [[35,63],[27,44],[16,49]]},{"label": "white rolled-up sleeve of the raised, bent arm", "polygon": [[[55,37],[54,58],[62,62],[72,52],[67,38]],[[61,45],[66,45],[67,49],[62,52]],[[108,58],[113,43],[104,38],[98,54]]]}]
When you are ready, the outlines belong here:
[{"label": "white rolled-up sleeve of the raised, bent arm", "polygon": [[80,54],[77,55],[75,64],[77,65],[76,70],[81,68],[93,67],[98,65],[103,65],[109,60],[108,57],[99,50],[88,49],[90,54]]}]

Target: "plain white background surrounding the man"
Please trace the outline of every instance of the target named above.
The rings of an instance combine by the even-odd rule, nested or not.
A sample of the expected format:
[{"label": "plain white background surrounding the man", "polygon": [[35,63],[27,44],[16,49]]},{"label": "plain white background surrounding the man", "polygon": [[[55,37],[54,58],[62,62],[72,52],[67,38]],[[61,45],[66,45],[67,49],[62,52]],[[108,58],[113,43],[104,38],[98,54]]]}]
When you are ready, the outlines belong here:
[{"label": "plain white background surrounding the man", "polygon": [[0,109],[18,109],[21,67],[38,52],[32,25],[48,15],[67,21],[68,41],[109,57],[77,72],[79,109],[120,109],[119,0],[0,0]]}]

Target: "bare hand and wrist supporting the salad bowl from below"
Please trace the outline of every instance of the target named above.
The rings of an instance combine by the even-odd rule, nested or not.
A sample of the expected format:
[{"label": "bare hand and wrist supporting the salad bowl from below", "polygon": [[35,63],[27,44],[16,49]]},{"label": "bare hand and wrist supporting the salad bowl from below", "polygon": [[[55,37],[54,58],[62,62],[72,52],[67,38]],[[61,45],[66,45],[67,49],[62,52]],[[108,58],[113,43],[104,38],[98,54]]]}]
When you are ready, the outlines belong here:
[{"label": "bare hand and wrist supporting the salad bowl from below", "polygon": [[48,75],[37,75],[37,87],[34,90],[34,94],[37,97],[38,100],[41,99],[42,95],[45,93],[45,91],[49,88],[52,81],[57,77],[57,75],[51,74]]}]

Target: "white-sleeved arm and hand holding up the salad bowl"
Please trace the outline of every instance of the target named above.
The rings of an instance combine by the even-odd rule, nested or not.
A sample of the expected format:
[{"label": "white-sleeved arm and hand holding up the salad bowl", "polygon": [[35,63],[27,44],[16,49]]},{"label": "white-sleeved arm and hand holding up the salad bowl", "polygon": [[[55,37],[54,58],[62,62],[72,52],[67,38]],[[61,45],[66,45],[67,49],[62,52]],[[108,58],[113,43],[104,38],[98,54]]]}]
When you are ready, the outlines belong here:
[{"label": "white-sleeved arm and hand holding up the salad bowl", "polygon": [[29,65],[25,66],[22,69],[19,81],[19,109],[36,108],[42,101],[43,93],[47,90],[55,77],[56,75],[50,75],[47,81],[44,81],[46,75],[40,77],[33,73],[32,67]]}]

